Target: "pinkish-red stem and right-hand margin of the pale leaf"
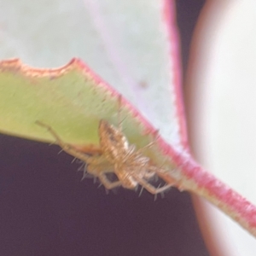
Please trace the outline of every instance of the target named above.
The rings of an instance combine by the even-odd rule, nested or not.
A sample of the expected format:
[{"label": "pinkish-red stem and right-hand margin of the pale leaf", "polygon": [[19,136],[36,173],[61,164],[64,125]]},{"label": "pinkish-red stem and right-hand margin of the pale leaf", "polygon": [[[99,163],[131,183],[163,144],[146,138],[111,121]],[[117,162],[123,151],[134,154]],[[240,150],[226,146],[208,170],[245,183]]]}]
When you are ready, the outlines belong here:
[{"label": "pinkish-red stem and right-hand margin of the pale leaf", "polygon": [[[183,104],[182,75],[180,64],[179,37],[176,27],[176,9],[174,1],[164,0],[164,19],[168,26],[169,42],[172,49],[171,58],[174,61],[174,90],[176,93],[177,118],[180,127],[181,142],[184,152],[177,152],[174,148],[160,142],[160,148],[164,148],[166,154],[179,166],[181,180],[178,182],[179,189],[186,189],[195,195],[201,195],[207,201],[225,212],[238,224],[256,237],[256,207],[244,197],[236,193],[225,183],[218,180],[211,173],[206,172],[189,153],[189,140],[185,111]],[[171,44],[172,42],[172,44]],[[160,174],[167,182],[172,183],[172,177]],[[169,180],[170,178],[170,180]]]}]

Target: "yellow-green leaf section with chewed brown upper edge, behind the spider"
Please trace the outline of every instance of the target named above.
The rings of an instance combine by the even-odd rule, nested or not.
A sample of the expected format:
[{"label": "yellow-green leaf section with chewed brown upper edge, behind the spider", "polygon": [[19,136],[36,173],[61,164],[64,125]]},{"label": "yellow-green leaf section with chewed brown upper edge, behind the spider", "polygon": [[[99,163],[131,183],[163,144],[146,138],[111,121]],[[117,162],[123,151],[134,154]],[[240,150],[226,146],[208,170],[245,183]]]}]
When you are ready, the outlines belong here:
[{"label": "yellow-green leaf section with chewed brown upper edge, behind the spider", "polygon": [[[39,120],[55,129],[67,143],[96,146],[100,119],[118,125],[117,93],[78,59],[55,70],[32,69],[18,60],[3,61],[0,71],[3,133],[54,142],[49,132],[36,124]],[[125,134],[137,141],[145,128],[139,128],[135,113],[125,107],[124,101],[120,110],[122,125]]]}]

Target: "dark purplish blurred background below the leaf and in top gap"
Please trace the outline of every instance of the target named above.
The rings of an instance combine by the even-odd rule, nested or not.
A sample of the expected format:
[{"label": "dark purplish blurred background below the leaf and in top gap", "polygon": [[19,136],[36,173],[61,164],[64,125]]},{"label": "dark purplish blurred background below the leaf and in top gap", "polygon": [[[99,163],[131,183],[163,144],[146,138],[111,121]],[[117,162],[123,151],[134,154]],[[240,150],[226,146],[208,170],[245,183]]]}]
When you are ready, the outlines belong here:
[{"label": "dark purplish blurred background below the leaf and in top gap", "polygon": [[[204,1],[177,0],[183,68]],[[207,256],[189,194],[164,199],[82,177],[60,148],[0,137],[1,256]]]}]

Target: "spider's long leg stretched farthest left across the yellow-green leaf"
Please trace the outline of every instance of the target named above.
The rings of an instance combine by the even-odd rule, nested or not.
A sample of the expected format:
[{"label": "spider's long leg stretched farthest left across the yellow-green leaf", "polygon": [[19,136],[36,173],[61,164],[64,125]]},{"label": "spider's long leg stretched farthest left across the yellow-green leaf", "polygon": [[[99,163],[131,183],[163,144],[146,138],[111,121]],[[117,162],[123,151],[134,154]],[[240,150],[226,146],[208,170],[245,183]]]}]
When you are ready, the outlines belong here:
[{"label": "spider's long leg stretched farthest left across the yellow-green leaf", "polygon": [[102,162],[102,157],[101,156],[89,156],[87,154],[82,153],[79,151],[77,148],[73,147],[72,145],[68,143],[64,143],[61,140],[61,137],[57,135],[57,133],[49,126],[45,125],[44,123],[40,121],[36,121],[37,125],[40,125],[49,131],[49,133],[52,135],[52,137],[55,138],[56,143],[62,148],[63,151],[67,152],[67,154],[73,155],[75,158],[78,158],[79,160],[82,160],[88,164],[100,164]]}]

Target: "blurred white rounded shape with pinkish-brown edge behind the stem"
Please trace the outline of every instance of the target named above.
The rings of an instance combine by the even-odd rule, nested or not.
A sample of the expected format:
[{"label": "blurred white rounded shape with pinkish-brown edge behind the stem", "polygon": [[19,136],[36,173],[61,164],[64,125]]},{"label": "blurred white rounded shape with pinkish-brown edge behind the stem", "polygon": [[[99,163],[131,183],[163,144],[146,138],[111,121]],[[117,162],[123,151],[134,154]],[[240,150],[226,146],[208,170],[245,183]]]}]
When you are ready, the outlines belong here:
[{"label": "blurred white rounded shape with pinkish-brown edge behind the stem", "polygon": [[[185,94],[191,150],[209,172],[256,204],[256,2],[208,1],[190,52]],[[195,201],[213,256],[255,255],[253,236]]]}]

